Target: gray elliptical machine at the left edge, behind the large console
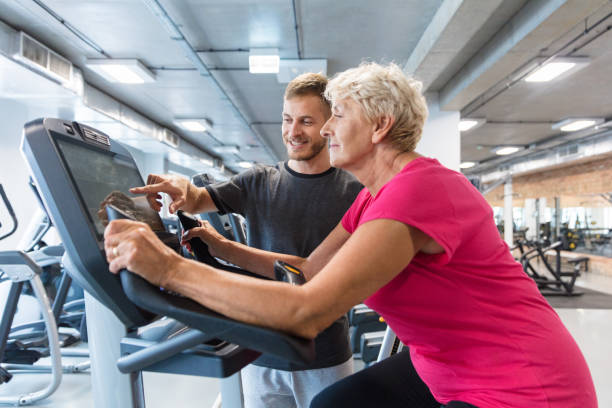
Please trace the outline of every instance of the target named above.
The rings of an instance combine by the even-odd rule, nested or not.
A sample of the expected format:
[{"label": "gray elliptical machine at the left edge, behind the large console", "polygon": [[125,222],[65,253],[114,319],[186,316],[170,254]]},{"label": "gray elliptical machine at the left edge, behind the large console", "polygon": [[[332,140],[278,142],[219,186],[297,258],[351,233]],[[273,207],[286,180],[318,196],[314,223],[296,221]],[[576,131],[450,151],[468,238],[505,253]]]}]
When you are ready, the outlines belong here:
[{"label": "gray elliptical machine at the left edge, behind the large console", "polygon": [[[38,191],[30,180],[35,196],[39,199]],[[12,235],[18,226],[18,220],[13,208],[0,184],[0,197],[13,221],[13,227],[9,233],[0,239]],[[61,347],[78,341],[72,335],[60,336],[58,322],[62,325],[83,326],[83,312],[66,312],[72,308],[82,308],[81,301],[66,303],[68,291],[71,286],[70,277],[62,273],[57,290],[53,294],[53,303],[49,299],[47,288],[42,277],[50,276],[49,270],[61,268],[61,259],[64,254],[63,247],[47,246],[42,238],[51,228],[51,220],[43,211],[39,210],[30,223],[19,247],[22,250],[0,252],[0,282],[11,280],[10,289],[2,318],[0,320],[0,384],[7,383],[15,373],[50,373],[49,384],[38,391],[29,392],[16,396],[1,396],[0,404],[29,405],[49,397],[59,387],[62,372],[81,372],[89,368],[89,362],[62,366]],[[49,282],[51,286],[55,285]],[[13,325],[19,299],[24,289],[29,286],[40,306],[41,320],[35,320],[25,324]],[[87,353],[83,357],[87,357]],[[34,365],[42,357],[50,357],[50,365]]]}]

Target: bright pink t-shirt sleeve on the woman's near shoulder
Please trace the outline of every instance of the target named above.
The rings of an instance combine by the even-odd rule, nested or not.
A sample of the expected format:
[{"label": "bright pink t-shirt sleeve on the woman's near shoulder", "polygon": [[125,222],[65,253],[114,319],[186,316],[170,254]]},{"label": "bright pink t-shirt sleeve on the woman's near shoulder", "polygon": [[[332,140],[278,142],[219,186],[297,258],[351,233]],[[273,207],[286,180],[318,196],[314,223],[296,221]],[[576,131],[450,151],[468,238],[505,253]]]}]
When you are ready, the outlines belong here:
[{"label": "bright pink t-shirt sleeve on the woman's near shoulder", "polygon": [[363,224],[375,219],[392,219],[418,228],[444,248],[443,255],[431,259],[445,264],[461,241],[461,230],[445,180],[427,182],[403,176],[386,185],[359,220]]}]

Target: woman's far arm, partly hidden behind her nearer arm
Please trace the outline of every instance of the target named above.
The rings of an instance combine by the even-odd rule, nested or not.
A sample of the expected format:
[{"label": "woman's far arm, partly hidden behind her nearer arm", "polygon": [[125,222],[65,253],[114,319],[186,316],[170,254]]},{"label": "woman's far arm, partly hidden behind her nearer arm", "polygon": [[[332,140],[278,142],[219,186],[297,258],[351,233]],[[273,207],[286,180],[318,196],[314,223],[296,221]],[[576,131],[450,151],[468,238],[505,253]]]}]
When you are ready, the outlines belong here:
[{"label": "woman's far arm, partly hidden behind her nearer arm", "polygon": [[274,278],[274,261],[281,260],[301,269],[306,279],[309,280],[323,269],[340,247],[349,239],[350,234],[341,223],[338,223],[336,228],[329,233],[327,238],[319,244],[308,258],[264,251],[228,240],[207,222],[203,222],[200,228],[189,230],[184,235],[183,240],[188,241],[194,237],[201,238],[206,242],[213,256],[224,259],[250,272]]}]

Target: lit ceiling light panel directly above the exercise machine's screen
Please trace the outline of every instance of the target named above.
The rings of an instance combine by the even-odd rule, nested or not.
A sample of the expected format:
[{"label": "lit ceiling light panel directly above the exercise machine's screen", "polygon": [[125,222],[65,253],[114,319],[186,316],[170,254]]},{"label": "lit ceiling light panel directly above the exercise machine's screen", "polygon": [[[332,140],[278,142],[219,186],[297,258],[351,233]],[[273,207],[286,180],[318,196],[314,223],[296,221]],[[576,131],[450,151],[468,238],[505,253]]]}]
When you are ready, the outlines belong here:
[{"label": "lit ceiling light panel directly above the exercise machine's screen", "polygon": [[155,81],[155,74],[136,59],[88,59],[85,66],[109,82],[143,84]]}]

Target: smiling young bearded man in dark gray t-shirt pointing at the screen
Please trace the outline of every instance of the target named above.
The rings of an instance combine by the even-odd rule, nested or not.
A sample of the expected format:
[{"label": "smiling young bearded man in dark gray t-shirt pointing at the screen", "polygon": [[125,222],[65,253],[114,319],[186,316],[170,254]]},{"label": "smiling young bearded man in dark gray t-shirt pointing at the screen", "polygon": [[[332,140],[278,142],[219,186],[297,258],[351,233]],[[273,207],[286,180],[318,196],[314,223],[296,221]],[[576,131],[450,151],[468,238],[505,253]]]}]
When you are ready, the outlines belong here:
[{"label": "smiling young bearded man in dark gray t-shirt pointing at the screen", "polygon": [[[336,227],[361,190],[349,173],[330,166],[327,140],[319,133],[331,116],[323,92],[327,79],[304,74],[289,83],[283,103],[282,137],[289,160],[257,165],[198,189],[184,179],[150,175],[146,193],[161,208],[157,193],[173,202],[170,211],[220,211],[242,214],[251,247],[307,257]],[[270,271],[270,277],[273,277]],[[297,366],[262,356],[242,370],[246,408],[308,407],[321,390],[352,373],[346,316],[315,340],[317,358]]]}]

